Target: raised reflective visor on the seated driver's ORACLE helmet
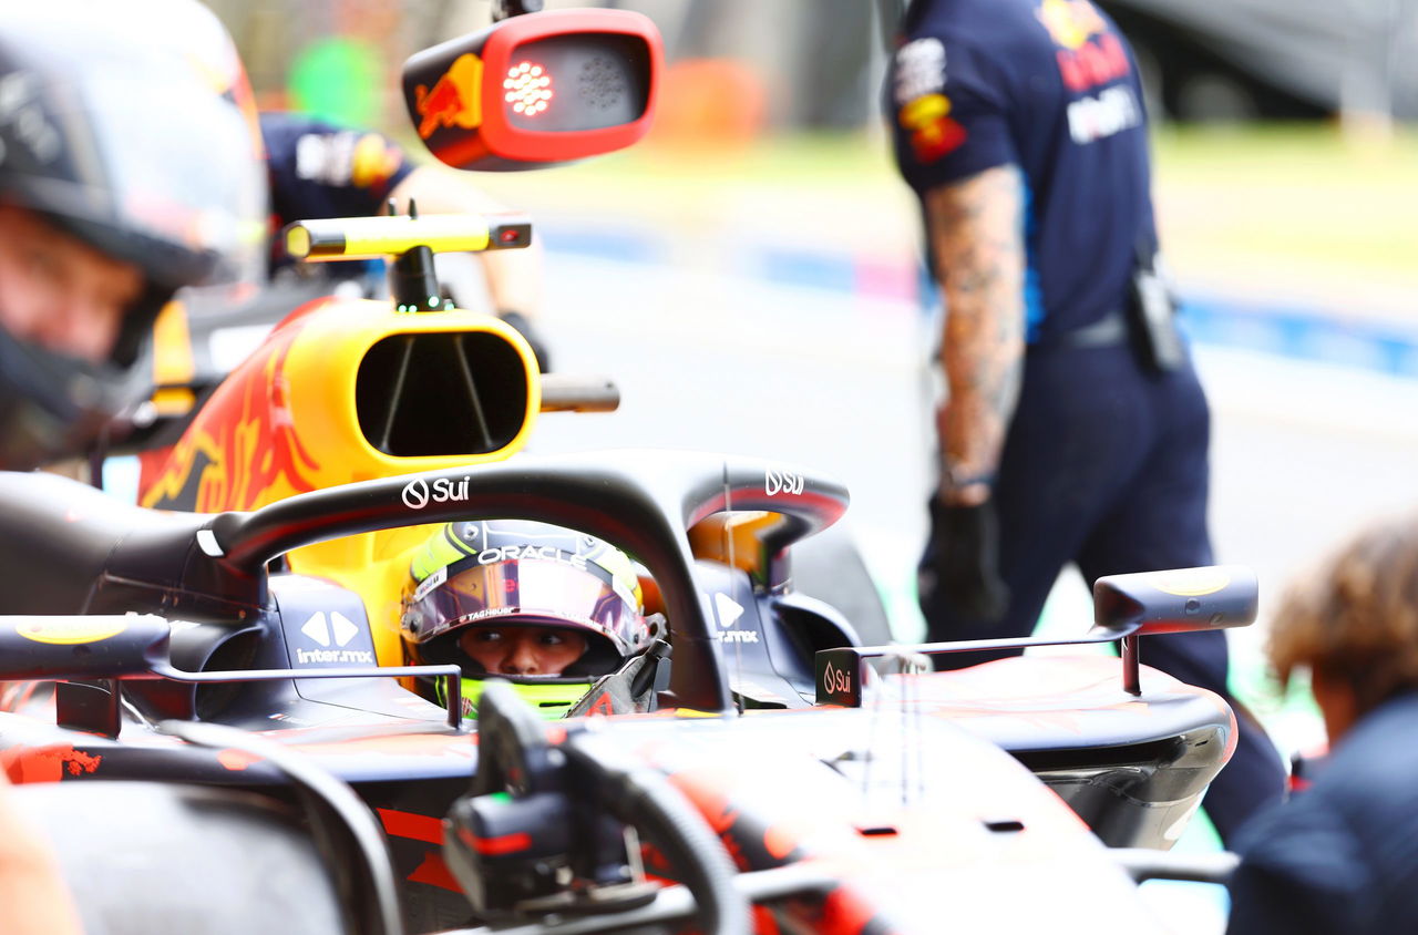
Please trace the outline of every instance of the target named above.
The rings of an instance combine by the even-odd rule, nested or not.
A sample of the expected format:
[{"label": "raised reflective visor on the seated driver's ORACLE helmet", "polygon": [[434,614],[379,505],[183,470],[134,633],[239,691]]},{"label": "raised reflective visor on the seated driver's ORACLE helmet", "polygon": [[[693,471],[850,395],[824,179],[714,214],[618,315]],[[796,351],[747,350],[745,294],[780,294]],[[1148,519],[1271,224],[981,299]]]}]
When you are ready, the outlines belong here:
[{"label": "raised reflective visor on the seated driver's ORACLE helmet", "polygon": [[[427,643],[467,626],[501,621],[591,630],[607,637],[621,655],[637,648],[641,616],[608,576],[603,577],[591,563],[574,562],[577,556],[554,548],[545,552],[545,558],[489,565],[474,556],[438,569],[408,603],[410,638]],[[513,616],[515,621],[505,620]]]}]

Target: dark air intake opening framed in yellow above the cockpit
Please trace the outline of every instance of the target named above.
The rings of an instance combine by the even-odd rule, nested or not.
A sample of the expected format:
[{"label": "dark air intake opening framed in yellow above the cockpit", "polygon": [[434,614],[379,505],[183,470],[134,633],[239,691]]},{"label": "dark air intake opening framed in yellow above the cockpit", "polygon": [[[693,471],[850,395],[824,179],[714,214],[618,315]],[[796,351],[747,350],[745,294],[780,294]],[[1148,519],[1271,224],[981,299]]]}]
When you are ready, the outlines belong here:
[{"label": "dark air intake opening framed in yellow above the cockpit", "polygon": [[527,370],[492,332],[390,335],[354,380],[359,427],[397,458],[489,454],[522,431]]}]

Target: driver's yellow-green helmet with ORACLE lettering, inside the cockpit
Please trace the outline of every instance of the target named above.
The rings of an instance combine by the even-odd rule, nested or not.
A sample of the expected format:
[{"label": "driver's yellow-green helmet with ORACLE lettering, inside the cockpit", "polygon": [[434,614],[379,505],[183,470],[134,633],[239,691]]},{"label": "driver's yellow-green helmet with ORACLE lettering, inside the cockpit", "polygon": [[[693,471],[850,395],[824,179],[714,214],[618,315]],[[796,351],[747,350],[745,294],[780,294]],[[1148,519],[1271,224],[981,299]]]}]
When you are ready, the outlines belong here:
[{"label": "driver's yellow-green helmet with ORACLE lettering, inside the cockpit", "polygon": [[[415,665],[462,667],[464,717],[484,680],[512,682],[546,718],[564,717],[597,678],[658,636],[630,556],[542,522],[452,522],[420,546],[401,636]],[[442,680],[423,687],[444,704]]]}]

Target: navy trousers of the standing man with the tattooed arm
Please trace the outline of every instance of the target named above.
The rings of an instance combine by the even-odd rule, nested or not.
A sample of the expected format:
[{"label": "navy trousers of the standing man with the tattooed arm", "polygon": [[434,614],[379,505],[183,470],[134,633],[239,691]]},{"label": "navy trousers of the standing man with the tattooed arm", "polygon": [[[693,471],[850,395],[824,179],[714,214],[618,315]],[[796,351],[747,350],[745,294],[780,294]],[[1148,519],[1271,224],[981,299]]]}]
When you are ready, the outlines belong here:
[{"label": "navy trousers of the standing man with the tattooed arm", "polygon": [[[1210,436],[1210,410],[1190,366],[1144,372],[1122,345],[1031,348],[994,488],[1008,612],[1003,621],[983,621],[959,613],[946,594],[922,593],[927,637],[1028,636],[1069,563],[1089,587],[1103,575],[1212,563]],[[923,560],[930,560],[929,546]],[[1014,654],[934,660],[937,668],[963,668]],[[1265,731],[1227,688],[1225,634],[1149,637],[1141,657],[1236,709],[1235,753],[1204,799],[1222,841],[1229,841],[1254,812],[1283,796],[1286,772]]]}]

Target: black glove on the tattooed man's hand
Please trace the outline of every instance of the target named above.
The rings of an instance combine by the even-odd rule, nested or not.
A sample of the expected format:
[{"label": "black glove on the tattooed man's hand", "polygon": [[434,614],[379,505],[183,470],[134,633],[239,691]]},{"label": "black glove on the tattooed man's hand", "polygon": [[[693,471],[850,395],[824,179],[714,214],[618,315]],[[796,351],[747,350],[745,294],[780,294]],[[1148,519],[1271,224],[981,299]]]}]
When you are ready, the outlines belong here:
[{"label": "black glove on the tattooed man's hand", "polygon": [[998,623],[1010,604],[1000,579],[1000,519],[994,504],[949,507],[930,498],[930,546],[922,570],[934,576],[940,597],[959,612]]}]

